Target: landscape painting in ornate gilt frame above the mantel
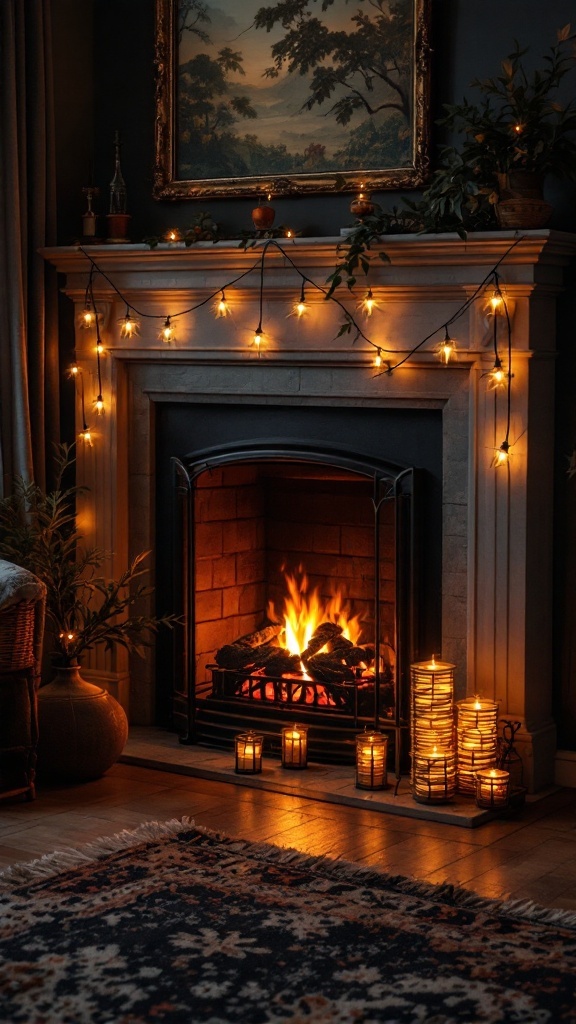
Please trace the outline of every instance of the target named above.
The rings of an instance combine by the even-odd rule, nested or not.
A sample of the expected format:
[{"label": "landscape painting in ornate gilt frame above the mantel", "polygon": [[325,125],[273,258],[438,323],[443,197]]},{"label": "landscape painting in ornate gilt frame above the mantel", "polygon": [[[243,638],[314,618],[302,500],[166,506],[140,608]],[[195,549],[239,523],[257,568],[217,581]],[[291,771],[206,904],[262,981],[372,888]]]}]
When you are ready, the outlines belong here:
[{"label": "landscape painting in ornate gilt frame above the mantel", "polygon": [[430,0],[156,0],[157,199],[415,187]]}]

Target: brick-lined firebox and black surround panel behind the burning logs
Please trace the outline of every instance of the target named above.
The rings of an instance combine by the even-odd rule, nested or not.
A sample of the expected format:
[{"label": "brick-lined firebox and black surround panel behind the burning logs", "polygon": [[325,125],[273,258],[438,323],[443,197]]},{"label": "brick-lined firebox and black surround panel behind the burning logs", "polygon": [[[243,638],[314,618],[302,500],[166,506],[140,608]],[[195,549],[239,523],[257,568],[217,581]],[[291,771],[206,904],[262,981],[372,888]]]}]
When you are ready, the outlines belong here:
[{"label": "brick-lined firebox and black surround panel behind the burning logs", "polygon": [[[408,665],[420,651],[440,649],[441,642],[439,413],[163,404],[156,430],[158,607],[176,606],[187,621],[173,642],[164,638],[158,658],[158,721],[184,738],[230,743],[242,719],[231,717],[218,728],[207,721],[207,703],[200,702],[213,695],[216,652],[282,622],[291,577],[298,591],[305,590],[305,600],[318,598],[324,607],[339,600],[344,617],[359,621],[359,644],[373,648],[377,638],[378,714],[384,723],[394,721],[398,701],[406,722]],[[202,451],[206,440],[218,444]],[[170,481],[174,457],[178,469]],[[397,477],[404,482],[395,483]],[[166,502],[170,486],[172,507]],[[183,511],[178,495],[184,496]],[[189,516],[190,536],[182,537],[181,522]],[[162,543],[166,536],[173,538],[171,558]],[[198,709],[194,723],[189,679]],[[373,691],[373,685],[364,687]],[[353,716],[351,722],[358,729],[373,720],[373,703],[366,702],[362,686],[351,688],[357,703],[359,692],[365,698],[360,719]],[[343,701],[342,689],[338,700]],[[310,707],[318,693],[313,697],[311,685],[300,698],[308,701],[303,710],[318,733],[319,716],[315,720]],[[321,706],[324,699],[321,694]],[[221,719],[221,706],[219,711]],[[282,711],[293,714],[287,707]],[[328,716],[322,728],[341,727],[343,718],[342,713],[330,722]],[[279,721],[282,714],[268,730],[263,726],[271,743]],[[314,748],[314,737],[312,742]],[[322,751],[329,757],[329,750],[326,738],[318,740],[319,757]]]}]

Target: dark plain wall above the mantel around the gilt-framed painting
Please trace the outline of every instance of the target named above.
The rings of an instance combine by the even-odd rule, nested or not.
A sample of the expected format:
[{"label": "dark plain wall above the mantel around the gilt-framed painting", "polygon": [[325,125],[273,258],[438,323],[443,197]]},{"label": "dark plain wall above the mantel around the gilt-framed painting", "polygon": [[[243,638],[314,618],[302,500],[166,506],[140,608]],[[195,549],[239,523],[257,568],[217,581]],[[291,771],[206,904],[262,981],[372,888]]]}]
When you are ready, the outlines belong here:
[{"label": "dark plain wall above the mantel around the gilt-framed painting", "polygon": [[[60,241],[80,231],[89,161],[101,188],[99,210],[107,212],[114,171],[115,129],[123,138],[122,167],[132,215],[131,238],[186,227],[191,211],[209,209],[224,232],[251,228],[253,201],[156,202],[154,163],[154,0],[52,0],[56,54],[56,130]],[[535,61],[574,18],[573,0],[431,0],[433,116],[442,103],[470,95],[476,76],[497,74],[500,59],[518,38]],[[530,59],[530,58],[528,58]],[[435,144],[445,141],[438,129]],[[576,227],[573,186],[547,183],[557,204],[552,226]],[[375,197],[386,205],[399,196]],[[275,203],[277,222],[306,234],[336,234],[349,224],[349,197],[285,199]]]}]

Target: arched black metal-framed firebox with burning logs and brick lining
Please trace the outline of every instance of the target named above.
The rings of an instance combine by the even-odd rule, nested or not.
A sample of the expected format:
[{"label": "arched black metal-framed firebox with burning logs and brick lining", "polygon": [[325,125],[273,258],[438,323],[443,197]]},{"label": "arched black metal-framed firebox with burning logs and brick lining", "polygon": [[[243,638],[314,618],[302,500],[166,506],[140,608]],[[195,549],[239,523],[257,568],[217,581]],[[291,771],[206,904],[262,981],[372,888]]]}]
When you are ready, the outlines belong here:
[{"label": "arched black metal-framed firebox with burning logs and brick lining", "polygon": [[[333,410],[316,412],[329,434]],[[258,420],[246,407],[230,414],[235,437]],[[306,724],[310,755],[335,762],[354,761],[359,729],[376,726],[390,734],[399,768],[409,665],[440,598],[437,588],[424,606],[420,586],[421,577],[440,579],[438,481],[429,468],[311,443],[306,417],[294,411],[276,418],[301,438],[247,438],[172,459],[171,584],[184,620],[173,644],[172,721],[184,742],[225,746],[255,726],[273,753],[287,722]],[[339,415],[359,439],[373,419]],[[407,421],[396,417],[394,431],[394,419],[388,449]],[[426,419],[419,458],[433,467],[440,423],[435,431],[438,418]],[[270,429],[268,414],[259,420]]]}]

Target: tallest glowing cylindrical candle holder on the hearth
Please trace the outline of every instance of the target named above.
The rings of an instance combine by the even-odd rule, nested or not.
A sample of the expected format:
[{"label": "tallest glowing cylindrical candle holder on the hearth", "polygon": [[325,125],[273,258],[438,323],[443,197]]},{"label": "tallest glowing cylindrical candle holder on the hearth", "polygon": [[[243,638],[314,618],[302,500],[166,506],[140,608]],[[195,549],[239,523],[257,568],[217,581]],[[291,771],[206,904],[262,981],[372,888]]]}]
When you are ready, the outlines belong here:
[{"label": "tallest glowing cylindrical candle holder on the hearth", "polygon": [[454,668],[450,662],[415,662],[410,667],[412,796],[442,804],[456,792]]}]

